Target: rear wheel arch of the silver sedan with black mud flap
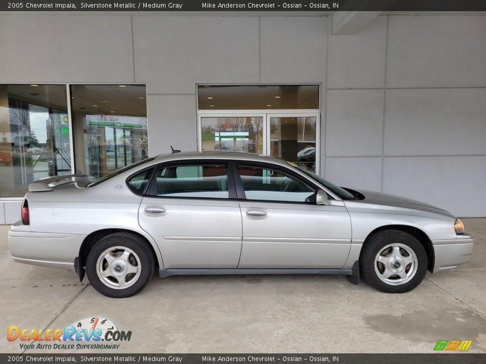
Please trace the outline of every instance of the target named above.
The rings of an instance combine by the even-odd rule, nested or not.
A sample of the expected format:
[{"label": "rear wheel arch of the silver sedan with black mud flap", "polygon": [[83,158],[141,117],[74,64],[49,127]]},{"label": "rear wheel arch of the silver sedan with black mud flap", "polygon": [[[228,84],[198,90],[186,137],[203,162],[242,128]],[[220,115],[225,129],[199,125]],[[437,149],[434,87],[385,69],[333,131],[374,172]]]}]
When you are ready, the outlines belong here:
[{"label": "rear wheel arch of the silver sedan with black mud flap", "polygon": [[79,247],[79,254],[75,259],[75,270],[76,273],[79,275],[79,279],[83,280],[83,277],[85,275],[85,266],[86,266],[86,258],[88,257],[88,253],[90,250],[95,246],[97,242],[99,242],[101,239],[104,237],[111,235],[113,233],[130,233],[130,234],[135,234],[144,241],[146,241],[149,245],[149,247],[152,249],[152,253],[155,256],[155,260],[157,262],[157,265],[164,266],[164,263],[162,261],[162,257],[160,256],[160,251],[156,246],[154,246],[155,243],[151,242],[150,239],[148,239],[146,236],[143,234],[140,234],[140,232],[129,230],[129,229],[101,229],[97,230],[91,234],[89,234],[84,240],[81,246]]}]

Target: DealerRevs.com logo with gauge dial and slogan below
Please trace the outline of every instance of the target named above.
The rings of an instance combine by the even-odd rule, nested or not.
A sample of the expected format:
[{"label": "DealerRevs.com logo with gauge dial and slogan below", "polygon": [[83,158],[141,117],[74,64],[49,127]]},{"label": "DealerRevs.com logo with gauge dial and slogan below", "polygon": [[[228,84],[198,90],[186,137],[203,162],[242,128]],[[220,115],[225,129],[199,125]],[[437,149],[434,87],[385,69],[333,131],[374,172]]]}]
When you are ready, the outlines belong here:
[{"label": "DealerRevs.com logo with gauge dial and slogan below", "polygon": [[101,316],[85,317],[64,329],[24,329],[16,325],[7,329],[7,340],[21,341],[21,349],[118,349],[118,342],[131,338],[132,331],[121,331],[113,321]]}]

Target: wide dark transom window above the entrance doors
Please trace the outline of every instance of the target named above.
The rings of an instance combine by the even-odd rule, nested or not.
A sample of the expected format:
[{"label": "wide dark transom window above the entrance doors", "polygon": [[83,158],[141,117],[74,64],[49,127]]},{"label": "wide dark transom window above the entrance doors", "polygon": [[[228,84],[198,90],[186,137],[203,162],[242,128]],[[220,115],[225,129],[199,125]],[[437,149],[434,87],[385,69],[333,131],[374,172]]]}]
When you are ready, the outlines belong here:
[{"label": "wide dark transom window above the entrance doors", "polygon": [[318,109],[318,85],[197,87],[199,110]]}]

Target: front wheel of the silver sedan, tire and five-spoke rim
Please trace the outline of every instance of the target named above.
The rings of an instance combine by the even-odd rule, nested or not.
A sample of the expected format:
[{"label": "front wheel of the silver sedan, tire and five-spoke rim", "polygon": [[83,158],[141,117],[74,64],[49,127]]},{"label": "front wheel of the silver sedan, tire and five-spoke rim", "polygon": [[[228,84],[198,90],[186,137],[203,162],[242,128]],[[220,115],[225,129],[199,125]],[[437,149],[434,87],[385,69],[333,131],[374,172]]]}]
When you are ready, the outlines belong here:
[{"label": "front wheel of the silver sedan, tire and five-spoke rim", "polygon": [[427,253],[413,236],[399,230],[384,230],[366,242],[359,259],[363,279],[378,291],[412,291],[427,272]]}]

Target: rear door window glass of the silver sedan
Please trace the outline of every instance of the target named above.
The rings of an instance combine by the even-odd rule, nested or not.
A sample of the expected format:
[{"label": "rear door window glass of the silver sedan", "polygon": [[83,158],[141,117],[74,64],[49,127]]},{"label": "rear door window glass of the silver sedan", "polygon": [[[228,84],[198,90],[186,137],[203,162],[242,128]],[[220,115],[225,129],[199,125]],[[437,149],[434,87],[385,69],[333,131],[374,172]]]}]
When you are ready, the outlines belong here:
[{"label": "rear door window glass of the silver sedan", "polygon": [[155,173],[155,183],[157,196],[229,198],[224,165],[160,167]]}]

